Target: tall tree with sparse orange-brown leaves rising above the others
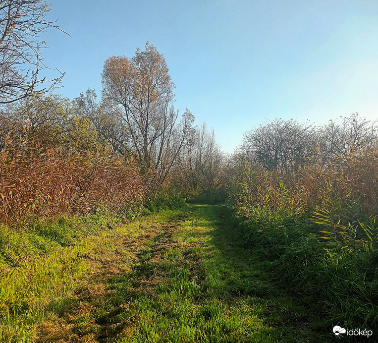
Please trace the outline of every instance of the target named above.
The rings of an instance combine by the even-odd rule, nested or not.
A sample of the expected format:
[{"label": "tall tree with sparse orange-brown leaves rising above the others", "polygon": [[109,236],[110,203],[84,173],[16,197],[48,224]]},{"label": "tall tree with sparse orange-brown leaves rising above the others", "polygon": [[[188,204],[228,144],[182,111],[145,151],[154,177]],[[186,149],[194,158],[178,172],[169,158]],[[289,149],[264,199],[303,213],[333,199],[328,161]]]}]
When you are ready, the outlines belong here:
[{"label": "tall tree with sparse orange-brown leaves rising above the others", "polygon": [[146,43],[132,59],[109,57],[102,73],[103,101],[128,128],[133,154],[143,171],[158,171],[162,182],[182,150],[193,115],[177,123],[173,108],[174,84],[164,57]]}]

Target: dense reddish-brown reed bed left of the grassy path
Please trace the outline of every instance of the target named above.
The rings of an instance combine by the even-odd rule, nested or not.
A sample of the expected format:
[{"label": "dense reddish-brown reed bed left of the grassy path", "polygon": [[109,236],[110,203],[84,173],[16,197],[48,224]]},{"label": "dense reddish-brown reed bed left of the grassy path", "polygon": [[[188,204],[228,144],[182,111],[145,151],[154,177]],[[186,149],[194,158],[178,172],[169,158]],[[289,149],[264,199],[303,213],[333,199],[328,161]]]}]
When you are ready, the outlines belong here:
[{"label": "dense reddish-brown reed bed left of the grassy path", "polygon": [[0,153],[0,223],[16,227],[35,216],[88,214],[140,206],[150,183],[117,156],[64,153],[60,148],[9,148]]}]

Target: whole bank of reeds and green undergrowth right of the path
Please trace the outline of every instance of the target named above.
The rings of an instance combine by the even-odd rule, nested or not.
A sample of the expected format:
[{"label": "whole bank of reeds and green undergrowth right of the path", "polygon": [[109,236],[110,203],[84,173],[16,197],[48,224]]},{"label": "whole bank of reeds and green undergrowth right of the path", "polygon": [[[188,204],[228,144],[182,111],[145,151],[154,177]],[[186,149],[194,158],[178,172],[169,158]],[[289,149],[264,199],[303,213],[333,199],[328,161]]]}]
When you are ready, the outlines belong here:
[{"label": "whole bank of reeds and green undergrowth right of the path", "polygon": [[375,328],[377,180],[375,148],[294,173],[252,168],[231,195],[246,245],[327,326]]}]

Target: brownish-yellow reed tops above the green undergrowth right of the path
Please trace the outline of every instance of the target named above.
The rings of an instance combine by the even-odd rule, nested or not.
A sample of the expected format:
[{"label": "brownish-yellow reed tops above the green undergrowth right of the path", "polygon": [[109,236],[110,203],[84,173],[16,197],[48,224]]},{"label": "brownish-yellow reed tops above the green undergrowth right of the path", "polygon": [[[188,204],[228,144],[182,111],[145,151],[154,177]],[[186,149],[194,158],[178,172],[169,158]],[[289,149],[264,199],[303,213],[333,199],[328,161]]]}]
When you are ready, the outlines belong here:
[{"label": "brownish-yellow reed tops above the green undergrowth right of the path", "polygon": [[322,163],[309,161],[296,171],[255,166],[243,187],[237,206],[244,207],[247,216],[251,206],[310,214],[339,207],[337,221],[357,223],[378,215],[378,147],[333,156]]}]

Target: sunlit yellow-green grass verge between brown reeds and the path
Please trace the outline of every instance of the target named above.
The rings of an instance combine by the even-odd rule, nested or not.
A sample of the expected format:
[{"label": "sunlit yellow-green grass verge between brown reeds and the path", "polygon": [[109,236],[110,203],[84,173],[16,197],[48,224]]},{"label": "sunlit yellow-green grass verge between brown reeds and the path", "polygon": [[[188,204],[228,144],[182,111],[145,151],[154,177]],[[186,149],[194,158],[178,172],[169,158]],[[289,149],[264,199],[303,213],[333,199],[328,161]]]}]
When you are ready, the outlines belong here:
[{"label": "sunlit yellow-green grass verge between brown reeds and the path", "polygon": [[[136,258],[129,244],[176,212],[162,211],[159,216],[114,229],[94,229],[82,221],[81,226],[75,227],[77,219],[62,221],[60,226],[47,223],[43,227],[38,223],[39,229],[29,232],[1,228],[1,237],[5,236],[7,243],[2,245],[1,255],[0,342],[38,341],[41,332],[49,331],[43,327],[45,322],[54,322],[80,304],[81,289],[101,285],[95,280],[106,280],[106,275],[111,274],[108,268],[113,268],[113,273],[129,270]],[[64,235],[61,232],[67,221],[72,232]],[[98,222],[93,217],[86,221]],[[58,243],[62,236],[69,244]],[[42,247],[35,242],[43,242]],[[54,326],[50,331],[54,334]]]}]

